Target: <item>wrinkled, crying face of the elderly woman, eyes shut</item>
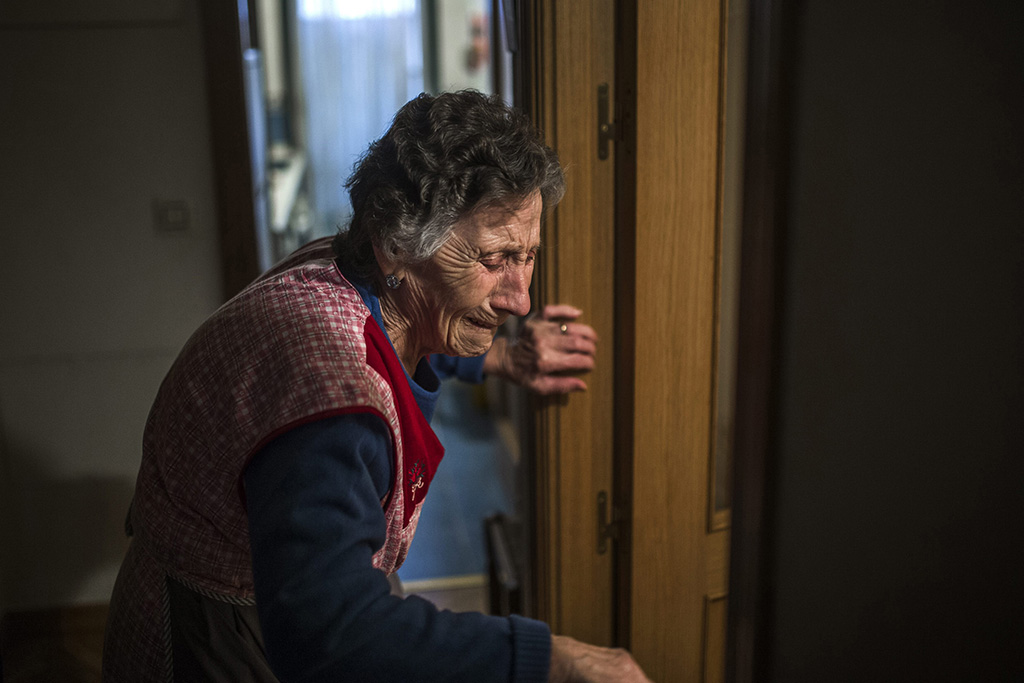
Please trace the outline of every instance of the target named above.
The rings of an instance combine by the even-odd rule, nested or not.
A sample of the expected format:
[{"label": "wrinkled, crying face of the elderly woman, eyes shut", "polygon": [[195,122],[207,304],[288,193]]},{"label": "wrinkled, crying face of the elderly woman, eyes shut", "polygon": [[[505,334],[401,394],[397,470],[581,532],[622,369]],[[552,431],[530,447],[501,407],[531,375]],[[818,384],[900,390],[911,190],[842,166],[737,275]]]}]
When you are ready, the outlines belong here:
[{"label": "wrinkled, crying face of the elderly woman, eyes shut", "polygon": [[542,212],[539,191],[513,211],[478,210],[455,224],[433,257],[408,266],[402,289],[420,351],[480,355],[509,315],[529,312]]}]

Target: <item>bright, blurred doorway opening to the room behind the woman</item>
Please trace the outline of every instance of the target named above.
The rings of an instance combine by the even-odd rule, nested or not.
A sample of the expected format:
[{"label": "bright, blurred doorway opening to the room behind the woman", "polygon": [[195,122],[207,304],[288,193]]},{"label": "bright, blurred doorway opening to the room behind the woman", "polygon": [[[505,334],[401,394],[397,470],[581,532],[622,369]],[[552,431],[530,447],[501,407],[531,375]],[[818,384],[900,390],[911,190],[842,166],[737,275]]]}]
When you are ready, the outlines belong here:
[{"label": "bright, blurred doorway opening to the room behind the woman", "polygon": [[[463,88],[508,93],[510,60],[496,54],[507,54],[493,18],[497,4],[256,0],[250,24],[257,47],[246,63],[256,73],[247,83],[257,119],[252,157],[266,174],[266,206],[256,210],[266,216],[257,219],[261,268],[344,229],[351,214],[344,183],[408,100]],[[432,420],[445,458],[398,577],[407,593],[487,611],[484,522],[501,516],[524,528],[514,520],[529,498],[509,424],[516,399],[497,383],[446,384]]]}]

